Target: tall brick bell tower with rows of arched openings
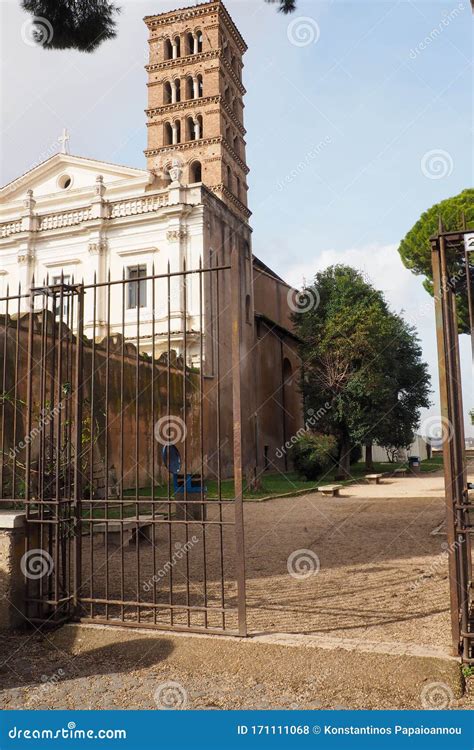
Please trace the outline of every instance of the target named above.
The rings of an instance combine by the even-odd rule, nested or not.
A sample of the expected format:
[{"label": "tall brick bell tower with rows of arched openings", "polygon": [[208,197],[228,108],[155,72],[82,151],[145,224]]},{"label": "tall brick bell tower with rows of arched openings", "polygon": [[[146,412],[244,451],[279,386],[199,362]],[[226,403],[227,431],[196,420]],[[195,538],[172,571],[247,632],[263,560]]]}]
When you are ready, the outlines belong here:
[{"label": "tall brick bell tower with rows of arched openings", "polygon": [[248,221],[242,56],[247,49],[221,0],[147,16],[148,169],[202,182]]}]

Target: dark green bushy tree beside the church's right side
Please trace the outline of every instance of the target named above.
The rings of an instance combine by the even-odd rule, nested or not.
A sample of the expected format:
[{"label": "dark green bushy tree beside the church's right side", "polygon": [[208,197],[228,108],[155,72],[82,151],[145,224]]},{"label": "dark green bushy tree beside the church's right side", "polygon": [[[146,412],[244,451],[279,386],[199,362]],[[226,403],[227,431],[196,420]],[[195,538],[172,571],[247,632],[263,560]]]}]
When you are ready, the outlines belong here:
[{"label": "dark green bushy tree beside the church's right side", "polygon": [[428,368],[414,328],[357,270],[331,266],[303,296],[306,312],[294,321],[305,409],[321,415],[316,430],[337,436],[339,474],[348,476],[354,445],[412,442],[420,409],[429,406]]}]

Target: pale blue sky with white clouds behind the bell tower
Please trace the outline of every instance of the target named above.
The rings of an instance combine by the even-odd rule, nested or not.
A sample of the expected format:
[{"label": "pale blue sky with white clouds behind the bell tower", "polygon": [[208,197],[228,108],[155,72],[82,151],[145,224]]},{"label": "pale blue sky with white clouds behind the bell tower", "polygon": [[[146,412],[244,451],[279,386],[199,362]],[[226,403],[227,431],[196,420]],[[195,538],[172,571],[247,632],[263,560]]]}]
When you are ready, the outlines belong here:
[{"label": "pale blue sky with white clouds behind the bell tower", "polygon": [[[25,44],[19,1],[1,3],[2,183],[64,126],[74,154],[145,166],[142,18],[186,2],[121,4],[118,38],[84,55]],[[298,0],[293,16],[226,5],[249,46],[254,251],[295,284],[334,262],[367,273],[417,325],[437,389],[430,300],[396,247],[426,208],[472,185],[469,2]],[[470,386],[467,340],[462,357]]]}]

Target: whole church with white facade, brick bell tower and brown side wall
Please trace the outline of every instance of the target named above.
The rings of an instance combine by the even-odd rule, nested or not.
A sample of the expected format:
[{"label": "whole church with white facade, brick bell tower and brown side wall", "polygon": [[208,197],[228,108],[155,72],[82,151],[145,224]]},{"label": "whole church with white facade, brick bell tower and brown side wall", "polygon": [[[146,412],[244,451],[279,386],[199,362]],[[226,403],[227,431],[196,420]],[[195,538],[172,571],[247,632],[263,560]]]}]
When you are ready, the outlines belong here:
[{"label": "whole church with white facade, brick bell tower and brown side wall", "polygon": [[[246,45],[220,0],[145,23],[146,168],[73,156],[64,133],[62,153],[0,189],[0,323],[17,312],[14,304],[6,309],[6,297],[19,285],[25,294],[33,283],[84,283],[93,287],[84,300],[88,339],[122,335],[154,358],[185,352],[186,365],[200,359],[212,379],[219,357],[223,371],[231,369],[229,342],[216,344],[213,334],[220,315],[226,331],[234,325],[226,304],[231,288],[223,285],[216,300],[199,273],[183,284],[183,271],[229,268],[237,258],[245,465],[285,468],[278,449],[302,424],[300,359],[288,303],[293,290],[252,252]],[[22,299],[20,313],[28,307]],[[229,404],[221,407],[231,422]]]}]

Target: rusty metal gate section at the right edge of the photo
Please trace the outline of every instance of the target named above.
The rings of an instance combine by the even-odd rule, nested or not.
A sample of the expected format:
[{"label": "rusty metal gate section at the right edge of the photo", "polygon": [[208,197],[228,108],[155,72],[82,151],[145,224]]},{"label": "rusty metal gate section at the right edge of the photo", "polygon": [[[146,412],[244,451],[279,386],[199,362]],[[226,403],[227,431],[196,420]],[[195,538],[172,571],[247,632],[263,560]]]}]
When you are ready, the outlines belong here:
[{"label": "rusty metal gate section at the right edge of the photo", "polygon": [[[438,344],[446,530],[453,653],[474,664],[472,496],[468,482],[459,357],[459,326],[470,331],[474,353],[474,232],[465,227],[433,237],[433,292]],[[458,304],[458,303],[461,304]]]}]

